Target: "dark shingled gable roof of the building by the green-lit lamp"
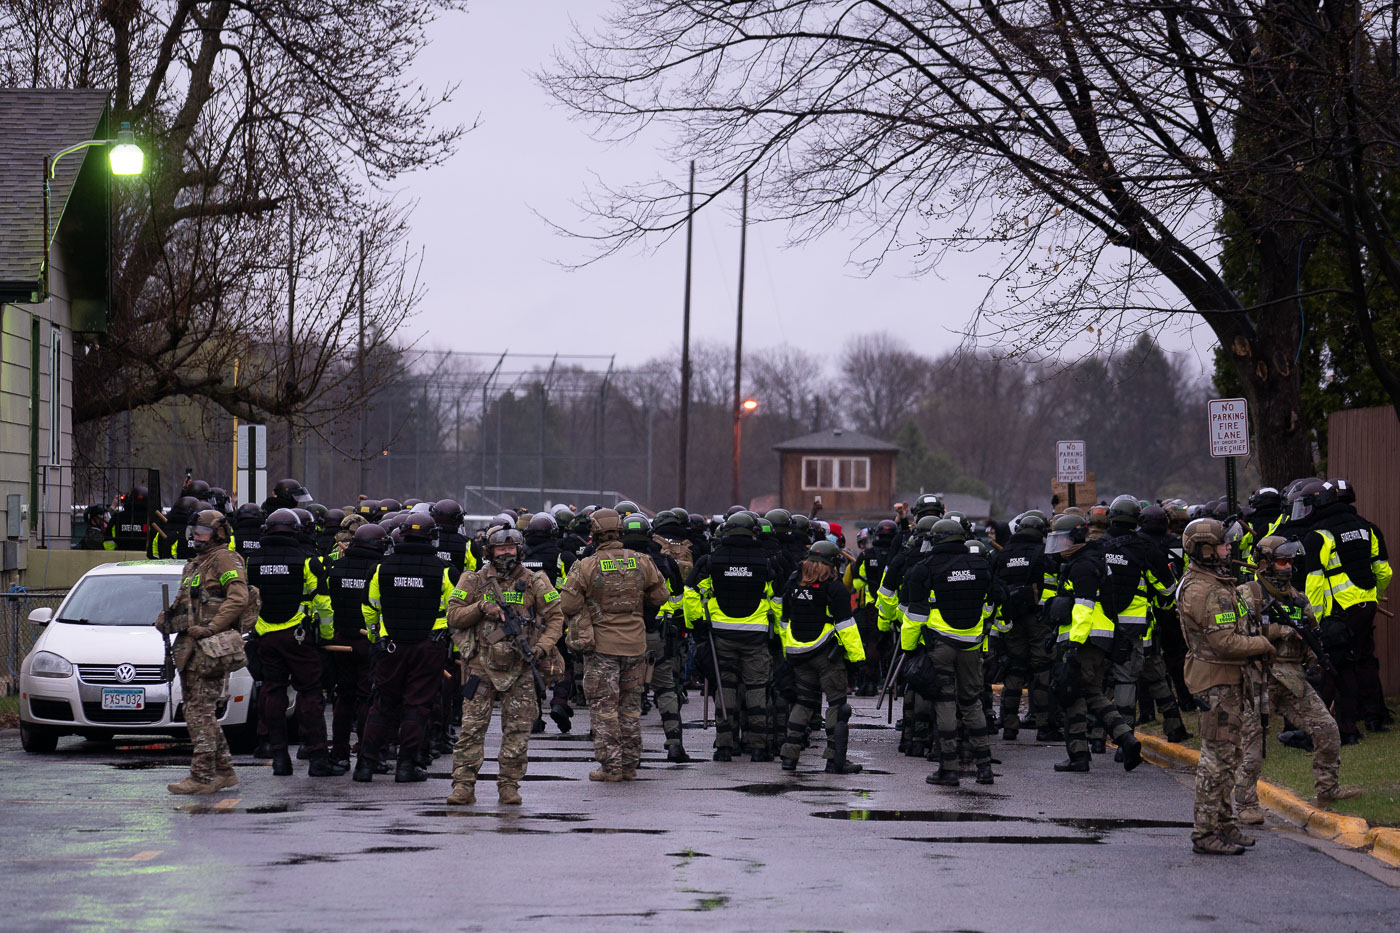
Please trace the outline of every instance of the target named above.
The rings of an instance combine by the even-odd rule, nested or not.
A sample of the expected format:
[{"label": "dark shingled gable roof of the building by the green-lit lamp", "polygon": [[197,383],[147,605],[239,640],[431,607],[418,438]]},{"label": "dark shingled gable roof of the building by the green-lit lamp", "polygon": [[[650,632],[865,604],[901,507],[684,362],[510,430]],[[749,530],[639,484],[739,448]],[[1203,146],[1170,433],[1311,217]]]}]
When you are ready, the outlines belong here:
[{"label": "dark shingled gable roof of the building by the green-lit lamp", "polygon": [[[43,157],[94,139],[111,91],[98,88],[0,88],[0,294],[38,290],[43,266]],[[95,148],[95,147],[92,147]],[[64,157],[50,188],[57,230],[78,170],[92,150]],[[101,153],[98,153],[101,156]]]}]

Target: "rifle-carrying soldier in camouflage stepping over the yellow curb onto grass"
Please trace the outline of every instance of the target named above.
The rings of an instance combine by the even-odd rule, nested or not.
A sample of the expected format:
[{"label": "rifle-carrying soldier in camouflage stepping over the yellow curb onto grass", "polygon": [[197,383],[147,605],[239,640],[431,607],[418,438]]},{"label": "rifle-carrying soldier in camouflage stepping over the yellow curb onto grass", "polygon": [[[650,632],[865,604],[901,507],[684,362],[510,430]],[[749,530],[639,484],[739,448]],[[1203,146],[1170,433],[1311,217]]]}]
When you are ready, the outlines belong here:
[{"label": "rifle-carrying soldier in camouflage stepping over the yellow curb onto grass", "polygon": [[[1249,615],[1261,625],[1261,633],[1274,644],[1277,654],[1264,678],[1268,709],[1287,716],[1308,733],[1313,741],[1313,783],[1317,803],[1331,803],[1359,797],[1357,787],[1344,787],[1341,770],[1341,735],[1337,720],[1308,682],[1303,664],[1310,651],[1303,644],[1296,625],[1316,629],[1308,598],[1292,586],[1294,562],[1302,556],[1302,545],[1280,535],[1270,535],[1254,545],[1259,572],[1254,580],[1238,588]],[[1287,618],[1292,625],[1281,621]],[[1264,730],[1259,716],[1243,721],[1245,751],[1235,772],[1235,808],[1240,822],[1264,822],[1259,807],[1259,775],[1264,768]]]}]

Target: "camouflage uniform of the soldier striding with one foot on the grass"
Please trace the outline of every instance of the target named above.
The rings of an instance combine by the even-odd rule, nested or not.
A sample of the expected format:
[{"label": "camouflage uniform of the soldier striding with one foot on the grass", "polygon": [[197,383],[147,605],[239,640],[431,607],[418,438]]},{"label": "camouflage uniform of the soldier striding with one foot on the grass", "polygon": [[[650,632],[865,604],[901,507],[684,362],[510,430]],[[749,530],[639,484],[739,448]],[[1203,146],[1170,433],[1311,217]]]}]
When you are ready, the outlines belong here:
[{"label": "camouflage uniform of the soldier striding with one foot on the grass", "polygon": [[[1281,611],[1296,608],[1301,619],[1316,628],[1308,601],[1291,586],[1287,591],[1273,591],[1263,581],[1250,581],[1238,588],[1249,614],[1263,619],[1263,635],[1274,643],[1273,663],[1264,678],[1264,693],[1268,710],[1287,716],[1313,741],[1313,782],[1319,797],[1336,796],[1340,787],[1341,734],[1337,720],[1317,696],[1317,691],[1303,674],[1308,647],[1302,637],[1289,626],[1267,619],[1270,604],[1278,600]],[[1243,721],[1245,751],[1239,769],[1235,772],[1235,804],[1243,811],[1259,806],[1259,775],[1264,768],[1264,728],[1259,716],[1246,716]]]}]

